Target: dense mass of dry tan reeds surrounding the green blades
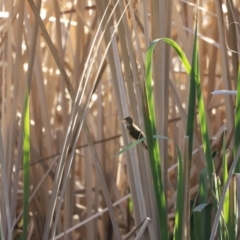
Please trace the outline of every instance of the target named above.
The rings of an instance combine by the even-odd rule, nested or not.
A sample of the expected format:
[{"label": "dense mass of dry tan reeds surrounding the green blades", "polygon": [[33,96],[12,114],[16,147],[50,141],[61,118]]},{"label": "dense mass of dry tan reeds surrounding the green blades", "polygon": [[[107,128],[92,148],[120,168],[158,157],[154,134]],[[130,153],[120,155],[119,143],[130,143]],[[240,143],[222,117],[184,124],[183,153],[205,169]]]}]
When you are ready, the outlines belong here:
[{"label": "dense mass of dry tan reeds surrounding the green blades", "polygon": [[[31,86],[29,239],[53,237],[54,226],[55,239],[122,239],[146,217],[152,221],[144,239],[158,238],[146,152],[138,146],[137,151],[111,157],[128,143],[121,118],[131,115],[144,128],[141,96],[149,43],[170,37],[191,61],[197,10],[213,150],[221,149],[225,130],[232,148],[233,98],[211,92],[236,89],[238,55],[226,43],[239,51],[239,26],[228,26],[240,22],[240,4],[202,0],[200,6],[184,0],[36,0],[34,5],[32,0],[2,1],[1,11],[9,13],[0,18],[2,239],[17,239],[22,229],[22,114],[27,84]],[[189,79],[165,43],[155,51],[157,130],[182,147]],[[172,143],[159,144],[172,231],[177,156]],[[196,128],[191,197],[205,165],[200,146]],[[219,162],[217,158],[216,165]],[[130,199],[133,209],[128,207]]]}]

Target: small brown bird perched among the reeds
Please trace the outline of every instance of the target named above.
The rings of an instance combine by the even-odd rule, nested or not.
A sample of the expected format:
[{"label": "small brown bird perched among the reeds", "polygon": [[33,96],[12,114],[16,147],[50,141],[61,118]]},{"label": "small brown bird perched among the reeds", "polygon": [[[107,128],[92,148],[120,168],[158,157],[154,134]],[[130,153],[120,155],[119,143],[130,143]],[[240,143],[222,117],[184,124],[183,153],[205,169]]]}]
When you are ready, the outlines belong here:
[{"label": "small brown bird perched among the reeds", "polygon": [[[145,134],[142,132],[142,130],[133,123],[133,120],[131,117],[126,117],[126,118],[122,119],[121,122],[123,122],[125,124],[126,128],[128,129],[129,135],[133,139],[138,140],[138,139],[145,137]],[[142,142],[142,146],[145,149],[148,149],[147,144],[145,142]]]}]

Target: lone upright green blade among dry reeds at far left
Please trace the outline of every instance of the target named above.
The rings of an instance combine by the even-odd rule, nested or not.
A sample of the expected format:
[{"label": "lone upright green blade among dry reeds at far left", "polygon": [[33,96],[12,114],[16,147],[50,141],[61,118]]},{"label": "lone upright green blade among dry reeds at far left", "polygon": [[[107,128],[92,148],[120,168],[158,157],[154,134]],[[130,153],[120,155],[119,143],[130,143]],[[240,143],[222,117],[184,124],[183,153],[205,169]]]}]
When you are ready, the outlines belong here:
[{"label": "lone upright green blade among dry reeds at far left", "polygon": [[28,227],[28,200],[29,200],[29,169],[30,169],[30,113],[29,113],[29,93],[26,90],[24,104],[24,124],[23,124],[23,237],[27,239]]}]

